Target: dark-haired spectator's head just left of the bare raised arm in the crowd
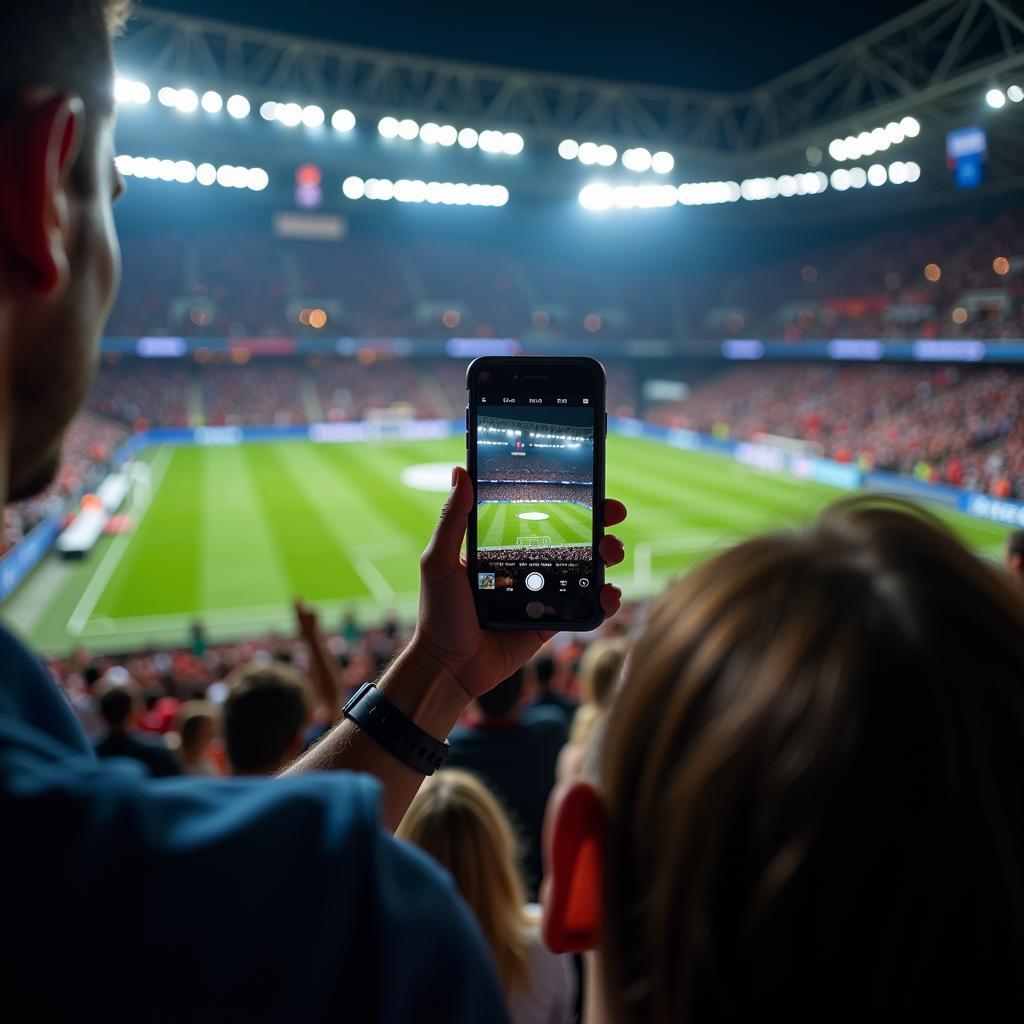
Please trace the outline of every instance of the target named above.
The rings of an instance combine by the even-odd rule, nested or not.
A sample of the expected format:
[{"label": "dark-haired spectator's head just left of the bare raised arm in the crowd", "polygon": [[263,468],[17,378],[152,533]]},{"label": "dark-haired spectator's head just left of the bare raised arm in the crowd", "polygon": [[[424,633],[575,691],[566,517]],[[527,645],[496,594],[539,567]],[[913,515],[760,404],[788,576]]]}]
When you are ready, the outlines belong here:
[{"label": "dark-haired spectator's head just left of the bare raised arm in the crowd", "polygon": [[306,681],[280,662],[243,665],[228,677],[224,744],[236,775],[271,775],[302,749]]}]

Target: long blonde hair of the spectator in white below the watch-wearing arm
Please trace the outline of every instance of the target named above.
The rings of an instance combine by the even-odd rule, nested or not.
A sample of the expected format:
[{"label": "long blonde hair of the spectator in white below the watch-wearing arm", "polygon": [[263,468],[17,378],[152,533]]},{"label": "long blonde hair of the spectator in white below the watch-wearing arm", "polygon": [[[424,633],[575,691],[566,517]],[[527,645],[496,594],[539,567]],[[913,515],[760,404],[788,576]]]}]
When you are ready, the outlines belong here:
[{"label": "long blonde hair of the spectator in white below the watch-wearing arm", "polygon": [[490,947],[506,996],[528,988],[530,919],[516,840],[487,787],[471,772],[438,772],[424,782],[395,835],[429,853],[455,879]]}]

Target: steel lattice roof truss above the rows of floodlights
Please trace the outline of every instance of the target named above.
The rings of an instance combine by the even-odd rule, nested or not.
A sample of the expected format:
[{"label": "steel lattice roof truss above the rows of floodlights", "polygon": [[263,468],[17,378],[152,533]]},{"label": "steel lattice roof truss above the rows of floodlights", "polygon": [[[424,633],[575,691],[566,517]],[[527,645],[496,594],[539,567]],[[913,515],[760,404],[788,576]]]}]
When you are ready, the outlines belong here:
[{"label": "steel lattice roof truss above the rows of floodlights", "polygon": [[754,89],[714,93],[412,56],[141,7],[123,67],[250,98],[344,105],[517,129],[553,139],[673,145],[694,163],[751,166],[907,113],[957,116],[964,97],[1024,69],[1014,0],[927,0]]}]

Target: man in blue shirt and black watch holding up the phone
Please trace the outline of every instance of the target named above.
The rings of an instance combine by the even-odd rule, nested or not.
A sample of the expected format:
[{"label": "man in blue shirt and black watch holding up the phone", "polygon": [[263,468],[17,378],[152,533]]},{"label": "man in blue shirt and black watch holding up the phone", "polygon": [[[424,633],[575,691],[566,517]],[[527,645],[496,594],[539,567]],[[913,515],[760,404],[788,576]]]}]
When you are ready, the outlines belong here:
[{"label": "man in blue shirt and black watch holding up the phone", "polygon": [[[124,0],[0,5],[0,507],[52,480],[117,288],[111,39],[126,13]],[[459,561],[473,485],[463,469],[452,483],[421,560],[417,632],[374,697],[438,746],[550,639],[479,628]],[[610,501],[602,513],[626,515]],[[601,555],[616,564],[622,545],[606,537]],[[611,615],[621,594],[600,600]],[[427,769],[360,721],[344,718],[276,779],[115,771],[0,628],[0,1018],[32,1006],[47,1020],[505,1020],[451,881],[389,835]],[[54,923],[75,948],[59,977]],[[113,989],[96,983],[112,949]],[[171,963],[155,1001],[153,967]]]}]

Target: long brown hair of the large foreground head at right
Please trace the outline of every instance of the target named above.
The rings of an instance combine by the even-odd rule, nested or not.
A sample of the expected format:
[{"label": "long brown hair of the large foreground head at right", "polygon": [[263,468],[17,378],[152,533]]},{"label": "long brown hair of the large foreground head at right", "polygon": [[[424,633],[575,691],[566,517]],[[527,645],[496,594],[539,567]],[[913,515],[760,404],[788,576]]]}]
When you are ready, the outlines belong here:
[{"label": "long brown hair of the large foreground head at right", "polygon": [[936,518],[853,500],[694,570],[600,761],[612,1020],[1020,1019],[1024,598]]}]

